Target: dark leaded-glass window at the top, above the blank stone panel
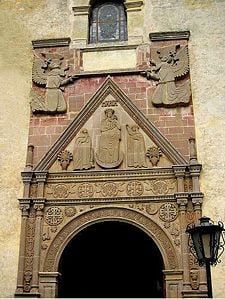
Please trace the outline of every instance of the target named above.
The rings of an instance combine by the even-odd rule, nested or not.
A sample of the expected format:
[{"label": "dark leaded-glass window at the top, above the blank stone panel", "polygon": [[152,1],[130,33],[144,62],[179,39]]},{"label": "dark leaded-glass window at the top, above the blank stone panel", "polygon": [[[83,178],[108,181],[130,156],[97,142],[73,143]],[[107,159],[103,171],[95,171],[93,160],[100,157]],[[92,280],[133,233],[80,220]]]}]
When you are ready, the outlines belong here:
[{"label": "dark leaded-glass window at the top, above the blank stone panel", "polygon": [[96,1],[90,17],[89,42],[124,40],[127,40],[127,22],[123,1]]}]

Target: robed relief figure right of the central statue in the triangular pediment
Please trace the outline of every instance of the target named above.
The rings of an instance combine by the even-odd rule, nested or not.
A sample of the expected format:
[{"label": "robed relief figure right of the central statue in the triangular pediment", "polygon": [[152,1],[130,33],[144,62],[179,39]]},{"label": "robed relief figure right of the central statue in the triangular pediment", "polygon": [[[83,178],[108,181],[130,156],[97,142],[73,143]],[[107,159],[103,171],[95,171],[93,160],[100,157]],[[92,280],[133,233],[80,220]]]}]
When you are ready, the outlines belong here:
[{"label": "robed relief figure right of the central statue in the triangular pediment", "polygon": [[127,125],[127,164],[129,167],[147,167],[145,140],[138,125]]}]

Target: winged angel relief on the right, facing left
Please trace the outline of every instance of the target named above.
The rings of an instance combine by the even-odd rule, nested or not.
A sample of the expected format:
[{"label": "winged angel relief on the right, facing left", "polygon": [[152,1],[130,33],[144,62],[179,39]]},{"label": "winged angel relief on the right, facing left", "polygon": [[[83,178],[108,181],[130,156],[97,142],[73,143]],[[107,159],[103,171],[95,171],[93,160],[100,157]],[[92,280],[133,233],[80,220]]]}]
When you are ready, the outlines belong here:
[{"label": "winged angel relief on the right, facing left", "polygon": [[152,103],[165,107],[188,104],[191,97],[190,80],[181,81],[189,73],[187,46],[152,49],[152,56],[156,60],[150,60],[150,69],[142,72],[148,80],[157,81]]}]

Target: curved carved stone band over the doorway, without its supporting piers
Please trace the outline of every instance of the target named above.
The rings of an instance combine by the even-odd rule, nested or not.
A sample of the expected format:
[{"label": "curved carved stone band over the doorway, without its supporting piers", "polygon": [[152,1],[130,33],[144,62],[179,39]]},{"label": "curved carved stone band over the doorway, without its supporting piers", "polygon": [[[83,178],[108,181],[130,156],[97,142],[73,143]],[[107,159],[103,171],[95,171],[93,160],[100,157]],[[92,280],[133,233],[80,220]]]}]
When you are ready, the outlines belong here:
[{"label": "curved carved stone band over the doorway, without its supporting piers", "polygon": [[158,246],[164,260],[165,270],[179,268],[178,257],[171,240],[152,219],[127,208],[105,207],[79,215],[59,231],[49,247],[43,271],[56,272],[62,252],[69,241],[88,225],[107,220],[125,221],[144,230]]}]

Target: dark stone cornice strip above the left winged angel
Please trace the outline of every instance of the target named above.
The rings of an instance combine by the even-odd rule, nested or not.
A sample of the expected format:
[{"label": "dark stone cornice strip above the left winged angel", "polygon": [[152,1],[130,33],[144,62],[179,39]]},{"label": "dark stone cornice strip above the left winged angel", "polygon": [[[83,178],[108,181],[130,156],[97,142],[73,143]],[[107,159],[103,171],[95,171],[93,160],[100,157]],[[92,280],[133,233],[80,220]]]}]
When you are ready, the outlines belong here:
[{"label": "dark stone cornice strip above the left winged angel", "polygon": [[48,47],[68,47],[70,45],[70,37],[37,39],[32,41],[33,49]]}]

